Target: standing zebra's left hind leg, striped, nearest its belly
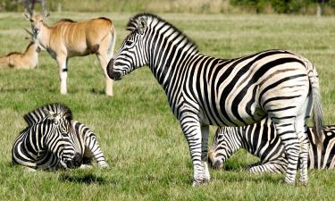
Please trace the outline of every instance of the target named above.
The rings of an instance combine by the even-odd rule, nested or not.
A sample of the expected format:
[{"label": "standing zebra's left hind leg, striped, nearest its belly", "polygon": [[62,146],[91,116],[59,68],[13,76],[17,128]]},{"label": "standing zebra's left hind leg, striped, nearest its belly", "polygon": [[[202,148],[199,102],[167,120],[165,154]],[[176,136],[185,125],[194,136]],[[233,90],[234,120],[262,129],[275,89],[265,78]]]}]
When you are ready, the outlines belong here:
[{"label": "standing zebra's left hind leg, striped, nearest its belly", "polygon": [[285,181],[288,183],[296,182],[297,174],[297,161],[300,153],[300,144],[297,138],[296,130],[294,127],[294,120],[292,121],[276,121],[274,125],[277,130],[278,136],[285,147],[285,152],[288,157],[288,166],[286,170]]}]

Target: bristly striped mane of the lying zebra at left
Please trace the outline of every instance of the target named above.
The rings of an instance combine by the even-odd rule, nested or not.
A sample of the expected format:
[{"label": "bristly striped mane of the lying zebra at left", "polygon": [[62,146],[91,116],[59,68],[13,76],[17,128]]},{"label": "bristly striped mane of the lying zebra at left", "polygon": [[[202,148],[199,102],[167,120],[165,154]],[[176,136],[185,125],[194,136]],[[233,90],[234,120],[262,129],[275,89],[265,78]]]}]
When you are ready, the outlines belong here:
[{"label": "bristly striped mane of the lying zebra at left", "polygon": [[53,113],[60,113],[68,121],[71,121],[73,118],[71,109],[68,106],[54,103],[43,105],[29,113],[26,113],[23,116],[23,119],[28,123],[29,126],[37,124],[38,122],[44,121],[46,119],[46,113],[44,112],[44,110],[51,111]]}]

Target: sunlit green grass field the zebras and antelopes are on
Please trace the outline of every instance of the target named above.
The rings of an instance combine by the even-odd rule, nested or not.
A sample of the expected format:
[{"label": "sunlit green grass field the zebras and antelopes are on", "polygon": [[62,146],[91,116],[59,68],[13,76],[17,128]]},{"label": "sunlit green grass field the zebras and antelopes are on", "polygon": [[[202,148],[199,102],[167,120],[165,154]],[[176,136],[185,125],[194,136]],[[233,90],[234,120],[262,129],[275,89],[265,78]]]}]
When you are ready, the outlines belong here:
[{"label": "sunlit green grass field the zebras and antelopes are on", "polygon": [[[133,13],[52,13],[49,23],[106,16],[118,39]],[[335,122],[335,17],[287,15],[162,14],[182,29],[202,53],[232,58],[270,48],[306,56],[321,77],[325,122]],[[0,13],[0,55],[23,51],[29,29],[21,13]],[[59,93],[58,68],[43,52],[31,71],[0,71],[0,200],[332,200],[334,171],[310,171],[307,187],[282,183],[284,175],[250,175],[241,171],[256,159],[240,151],[226,164],[230,171],[210,170],[212,181],[192,188],[188,145],[163,89],[144,67],[104,94],[96,57],[69,62],[67,96]],[[11,165],[14,138],[25,127],[24,113],[52,102],[69,105],[75,120],[86,123],[100,140],[110,168],[68,172],[24,172]],[[213,137],[214,128],[211,129]]]}]

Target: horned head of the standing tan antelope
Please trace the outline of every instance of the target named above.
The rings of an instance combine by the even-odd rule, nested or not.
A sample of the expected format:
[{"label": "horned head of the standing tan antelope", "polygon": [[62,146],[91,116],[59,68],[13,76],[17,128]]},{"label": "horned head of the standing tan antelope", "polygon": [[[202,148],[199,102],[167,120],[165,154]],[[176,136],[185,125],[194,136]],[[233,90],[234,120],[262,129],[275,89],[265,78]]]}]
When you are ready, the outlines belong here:
[{"label": "horned head of the standing tan antelope", "polygon": [[[28,1],[27,1],[28,2]],[[28,4],[25,4],[26,10],[28,13],[23,13],[23,16],[26,20],[30,21],[31,31],[34,38],[38,37],[42,26],[44,25],[44,20],[50,16],[50,13],[46,13],[46,3],[42,0],[42,13],[33,13],[29,8]]]}]

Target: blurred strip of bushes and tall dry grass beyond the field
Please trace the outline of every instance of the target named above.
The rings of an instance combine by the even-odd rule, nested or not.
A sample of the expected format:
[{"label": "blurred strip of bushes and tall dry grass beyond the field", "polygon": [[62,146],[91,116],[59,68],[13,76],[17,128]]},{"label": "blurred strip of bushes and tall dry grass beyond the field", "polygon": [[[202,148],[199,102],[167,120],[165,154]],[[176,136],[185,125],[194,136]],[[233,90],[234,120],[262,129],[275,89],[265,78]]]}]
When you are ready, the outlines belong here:
[{"label": "blurred strip of bushes and tall dry grass beyond the field", "polygon": [[[320,0],[46,0],[47,10],[72,12],[152,13],[303,13],[314,14]],[[40,4],[35,5],[41,9]],[[335,0],[325,0],[327,14]],[[24,11],[16,0],[0,1],[0,11]]]}]

